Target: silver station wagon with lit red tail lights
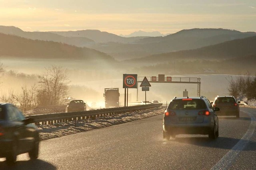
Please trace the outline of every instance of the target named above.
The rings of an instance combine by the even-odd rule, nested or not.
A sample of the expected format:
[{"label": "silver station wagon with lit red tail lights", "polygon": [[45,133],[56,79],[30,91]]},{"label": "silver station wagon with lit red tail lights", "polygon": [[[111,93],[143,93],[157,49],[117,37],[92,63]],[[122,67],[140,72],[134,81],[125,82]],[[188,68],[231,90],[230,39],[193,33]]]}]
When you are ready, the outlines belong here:
[{"label": "silver station wagon with lit red tail lights", "polygon": [[218,111],[204,97],[174,97],[164,112],[163,137],[175,138],[177,134],[208,134],[209,138],[219,136]]}]

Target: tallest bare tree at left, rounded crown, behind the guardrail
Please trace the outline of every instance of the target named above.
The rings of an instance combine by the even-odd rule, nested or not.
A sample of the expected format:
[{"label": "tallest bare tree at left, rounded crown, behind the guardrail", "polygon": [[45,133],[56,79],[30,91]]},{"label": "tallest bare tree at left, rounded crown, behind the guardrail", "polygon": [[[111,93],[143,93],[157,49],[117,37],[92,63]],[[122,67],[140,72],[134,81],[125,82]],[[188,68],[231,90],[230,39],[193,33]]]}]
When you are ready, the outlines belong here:
[{"label": "tallest bare tree at left, rounded crown, behind the guardrail", "polygon": [[39,79],[38,104],[40,106],[63,104],[70,82],[67,70],[52,65],[46,68],[46,73],[39,76]]}]

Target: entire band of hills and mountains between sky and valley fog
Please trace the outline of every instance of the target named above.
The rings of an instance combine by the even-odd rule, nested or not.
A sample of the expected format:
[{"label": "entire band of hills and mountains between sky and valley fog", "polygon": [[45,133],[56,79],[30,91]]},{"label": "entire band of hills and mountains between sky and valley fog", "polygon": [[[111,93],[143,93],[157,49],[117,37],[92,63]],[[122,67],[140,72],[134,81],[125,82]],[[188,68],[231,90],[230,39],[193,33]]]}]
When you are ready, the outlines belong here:
[{"label": "entire band of hills and mountains between sky and valley fog", "polygon": [[231,68],[227,63],[238,67],[239,59],[246,60],[245,70],[256,57],[255,32],[226,29],[195,28],[164,37],[131,38],[99,30],[24,32],[12,26],[0,26],[0,32],[0,57],[81,60],[92,67],[103,62],[132,72],[140,67],[144,71],[193,67],[200,72],[206,66],[225,70]]}]

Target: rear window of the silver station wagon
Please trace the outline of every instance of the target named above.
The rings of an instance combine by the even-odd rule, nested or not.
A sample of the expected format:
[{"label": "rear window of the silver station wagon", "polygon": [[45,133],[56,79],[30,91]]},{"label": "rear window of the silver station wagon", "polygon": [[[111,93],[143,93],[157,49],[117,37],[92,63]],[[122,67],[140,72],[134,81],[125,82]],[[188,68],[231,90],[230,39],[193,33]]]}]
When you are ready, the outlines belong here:
[{"label": "rear window of the silver station wagon", "polygon": [[206,104],[201,99],[192,99],[192,100],[182,100],[175,99],[173,100],[168,109],[186,109],[186,110],[195,110],[195,109],[206,109]]}]

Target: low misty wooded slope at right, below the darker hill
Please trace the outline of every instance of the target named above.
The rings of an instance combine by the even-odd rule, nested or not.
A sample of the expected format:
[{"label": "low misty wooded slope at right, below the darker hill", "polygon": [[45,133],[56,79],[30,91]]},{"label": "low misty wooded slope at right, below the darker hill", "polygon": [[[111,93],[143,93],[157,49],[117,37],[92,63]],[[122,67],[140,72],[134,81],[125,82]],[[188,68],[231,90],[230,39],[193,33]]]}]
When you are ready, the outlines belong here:
[{"label": "low misty wooded slope at right, below the darker hill", "polygon": [[150,75],[152,73],[172,74],[197,74],[197,73],[217,73],[217,74],[244,74],[247,71],[253,72],[256,55],[243,58],[223,59],[223,60],[173,60],[168,63],[159,63],[151,66],[137,68],[138,73]]}]

